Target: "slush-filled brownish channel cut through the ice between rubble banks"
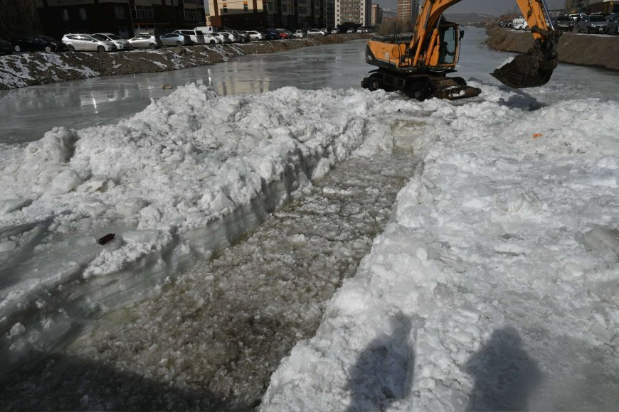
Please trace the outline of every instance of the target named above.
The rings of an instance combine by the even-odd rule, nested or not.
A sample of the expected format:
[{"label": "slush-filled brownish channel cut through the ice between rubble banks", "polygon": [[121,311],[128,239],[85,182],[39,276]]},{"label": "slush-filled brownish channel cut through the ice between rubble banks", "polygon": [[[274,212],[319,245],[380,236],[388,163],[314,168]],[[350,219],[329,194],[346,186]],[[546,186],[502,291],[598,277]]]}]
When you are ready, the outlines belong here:
[{"label": "slush-filled brownish channel cut through the ice between rubble banks", "polygon": [[[253,408],[382,232],[411,153],[352,158],[159,298],[97,322],[26,381],[16,409]],[[6,399],[8,397],[9,399]]]}]

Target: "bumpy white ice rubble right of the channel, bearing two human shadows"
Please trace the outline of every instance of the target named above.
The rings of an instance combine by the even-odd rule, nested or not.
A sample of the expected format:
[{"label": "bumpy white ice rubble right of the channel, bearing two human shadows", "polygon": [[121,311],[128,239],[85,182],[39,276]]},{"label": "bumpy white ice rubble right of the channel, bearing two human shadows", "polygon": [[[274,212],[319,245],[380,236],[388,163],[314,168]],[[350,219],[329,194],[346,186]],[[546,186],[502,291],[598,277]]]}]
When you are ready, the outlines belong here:
[{"label": "bumpy white ice rubble right of the channel, bearing two human shadows", "polygon": [[619,104],[483,98],[400,107],[423,167],[264,411],[619,408]]}]

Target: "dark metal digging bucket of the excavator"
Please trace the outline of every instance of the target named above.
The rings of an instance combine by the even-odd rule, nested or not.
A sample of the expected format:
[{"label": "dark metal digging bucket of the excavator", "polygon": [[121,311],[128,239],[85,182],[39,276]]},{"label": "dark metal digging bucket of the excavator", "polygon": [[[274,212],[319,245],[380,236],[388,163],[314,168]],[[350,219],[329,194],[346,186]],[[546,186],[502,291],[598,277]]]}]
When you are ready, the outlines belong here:
[{"label": "dark metal digging bucket of the excavator", "polygon": [[523,89],[545,85],[550,80],[552,70],[541,67],[536,53],[527,53],[517,55],[511,62],[494,70],[492,76],[508,87]]}]

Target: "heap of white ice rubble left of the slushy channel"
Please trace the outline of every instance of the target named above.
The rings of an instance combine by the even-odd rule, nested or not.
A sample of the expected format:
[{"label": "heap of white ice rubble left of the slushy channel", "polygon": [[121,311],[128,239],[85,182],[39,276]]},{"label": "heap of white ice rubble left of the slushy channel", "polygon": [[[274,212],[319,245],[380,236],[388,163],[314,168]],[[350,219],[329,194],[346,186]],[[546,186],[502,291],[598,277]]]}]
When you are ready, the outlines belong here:
[{"label": "heap of white ice rubble left of the slushy channel", "polygon": [[[68,332],[71,318],[157,293],[196,254],[253,229],[358,148],[366,117],[389,98],[295,88],[219,97],[188,85],[117,125],[55,128],[23,150],[7,146],[3,358],[45,352],[56,343],[46,331],[59,330],[51,323],[66,320]],[[6,335],[17,323],[26,331]]]}]

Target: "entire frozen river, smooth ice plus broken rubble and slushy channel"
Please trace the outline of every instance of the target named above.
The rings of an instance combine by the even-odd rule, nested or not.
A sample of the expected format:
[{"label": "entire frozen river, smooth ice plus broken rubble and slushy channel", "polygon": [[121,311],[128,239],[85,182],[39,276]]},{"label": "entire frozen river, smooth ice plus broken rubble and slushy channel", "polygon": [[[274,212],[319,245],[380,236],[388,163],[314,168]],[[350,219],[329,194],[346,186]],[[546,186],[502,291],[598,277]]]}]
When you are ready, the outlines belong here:
[{"label": "entire frozen river, smooth ice plus broken rubble and slushy channel", "polygon": [[467,102],[363,42],[2,92],[0,405],[247,409],[302,341],[265,408],[618,407],[616,75],[465,40]]}]

